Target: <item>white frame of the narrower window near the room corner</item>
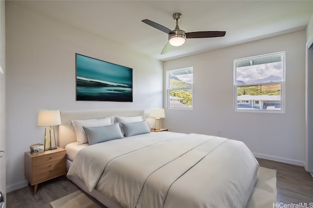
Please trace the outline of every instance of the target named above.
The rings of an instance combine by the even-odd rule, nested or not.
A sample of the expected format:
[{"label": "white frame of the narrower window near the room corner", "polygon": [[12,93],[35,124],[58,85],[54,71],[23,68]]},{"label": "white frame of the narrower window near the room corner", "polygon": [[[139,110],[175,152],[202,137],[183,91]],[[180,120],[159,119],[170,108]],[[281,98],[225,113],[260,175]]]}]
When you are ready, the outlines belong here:
[{"label": "white frame of the narrower window near the room corner", "polygon": [[[171,72],[190,70],[190,69],[192,69],[192,76],[194,76],[194,68],[192,66],[166,71],[166,107],[167,107],[167,109],[170,109],[170,110],[193,110],[193,107],[194,107],[194,93],[193,93],[194,83],[192,83],[191,89],[190,88],[180,88],[180,89],[173,90],[173,89],[170,89],[170,76],[169,76]],[[170,92],[171,91],[184,91],[184,90],[191,90],[191,108],[170,107],[170,100],[171,100]]]}]

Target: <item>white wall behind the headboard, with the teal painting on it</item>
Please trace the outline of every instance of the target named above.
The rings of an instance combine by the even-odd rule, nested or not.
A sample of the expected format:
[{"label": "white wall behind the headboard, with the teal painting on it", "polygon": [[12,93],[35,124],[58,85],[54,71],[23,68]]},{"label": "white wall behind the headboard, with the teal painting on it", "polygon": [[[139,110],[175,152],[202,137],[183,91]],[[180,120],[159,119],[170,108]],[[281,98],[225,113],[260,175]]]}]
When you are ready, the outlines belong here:
[{"label": "white wall behind the headboard, with the teal painting on it", "polygon": [[[6,1],[7,191],[27,185],[24,151],[44,142],[39,110],[161,108],[162,63]],[[133,102],[75,101],[75,53],[133,68]]]}]

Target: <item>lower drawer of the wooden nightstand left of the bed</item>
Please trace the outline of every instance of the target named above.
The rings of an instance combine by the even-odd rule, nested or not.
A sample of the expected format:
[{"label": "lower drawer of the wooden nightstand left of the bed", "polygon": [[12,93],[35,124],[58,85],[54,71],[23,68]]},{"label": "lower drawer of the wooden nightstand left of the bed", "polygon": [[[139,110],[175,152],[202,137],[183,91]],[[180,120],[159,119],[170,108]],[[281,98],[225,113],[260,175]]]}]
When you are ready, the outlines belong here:
[{"label": "lower drawer of the wooden nightstand left of the bed", "polygon": [[33,184],[55,178],[67,173],[66,158],[51,161],[42,165],[33,167]]}]

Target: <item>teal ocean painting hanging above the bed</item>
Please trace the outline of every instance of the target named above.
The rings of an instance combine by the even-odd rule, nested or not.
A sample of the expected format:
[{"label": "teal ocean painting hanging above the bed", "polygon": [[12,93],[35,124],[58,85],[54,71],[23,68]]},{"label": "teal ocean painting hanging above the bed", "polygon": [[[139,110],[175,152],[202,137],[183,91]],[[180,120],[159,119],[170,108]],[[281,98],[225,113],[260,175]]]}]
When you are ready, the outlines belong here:
[{"label": "teal ocean painting hanging above the bed", "polygon": [[76,100],[133,102],[133,69],[76,55]]}]

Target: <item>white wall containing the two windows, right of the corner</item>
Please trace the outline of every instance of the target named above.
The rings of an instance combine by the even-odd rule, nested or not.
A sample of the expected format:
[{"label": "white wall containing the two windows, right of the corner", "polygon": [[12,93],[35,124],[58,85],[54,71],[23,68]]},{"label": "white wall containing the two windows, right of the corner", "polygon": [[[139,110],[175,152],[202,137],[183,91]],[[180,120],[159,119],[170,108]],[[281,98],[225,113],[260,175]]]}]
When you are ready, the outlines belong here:
[{"label": "white wall containing the two windows, right of the corner", "polygon": [[[166,110],[164,127],[212,135],[221,130],[257,157],[304,166],[305,36],[300,31],[165,61],[164,77],[166,70],[194,67],[194,103],[193,110]],[[280,51],[286,51],[286,113],[234,112],[233,59]]]}]

